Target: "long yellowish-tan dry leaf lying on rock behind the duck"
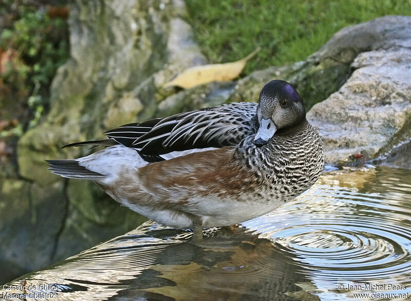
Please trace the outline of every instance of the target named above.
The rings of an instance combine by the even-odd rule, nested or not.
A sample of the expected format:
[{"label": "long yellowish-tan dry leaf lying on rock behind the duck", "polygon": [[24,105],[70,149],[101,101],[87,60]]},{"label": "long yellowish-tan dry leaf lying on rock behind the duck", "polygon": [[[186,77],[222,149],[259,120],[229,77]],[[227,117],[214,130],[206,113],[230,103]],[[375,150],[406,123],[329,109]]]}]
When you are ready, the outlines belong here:
[{"label": "long yellowish-tan dry leaf lying on rock behind the duck", "polygon": [[179,86],[184,89],[212,81],[230,81],[241,73],[246,63],[260,48],[255,49],[244,59],[232,63],[195,66],[184,70],[175,79],[165,83],[164,87]]}]

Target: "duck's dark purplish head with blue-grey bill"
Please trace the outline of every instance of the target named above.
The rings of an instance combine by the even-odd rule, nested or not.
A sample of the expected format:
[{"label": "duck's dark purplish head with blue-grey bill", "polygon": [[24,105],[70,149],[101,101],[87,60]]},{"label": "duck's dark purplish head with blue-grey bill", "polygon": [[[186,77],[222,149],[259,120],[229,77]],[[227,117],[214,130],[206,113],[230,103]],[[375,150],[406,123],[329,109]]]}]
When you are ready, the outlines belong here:
[{"label": "duck's dark purplish head with blue-grey bill", "polygon": [[260,93],[257,107],[259,129],[254,144],[261,147],[276,135],[299,131],[306,122],[303,99],[288,82],[272,80]]}]

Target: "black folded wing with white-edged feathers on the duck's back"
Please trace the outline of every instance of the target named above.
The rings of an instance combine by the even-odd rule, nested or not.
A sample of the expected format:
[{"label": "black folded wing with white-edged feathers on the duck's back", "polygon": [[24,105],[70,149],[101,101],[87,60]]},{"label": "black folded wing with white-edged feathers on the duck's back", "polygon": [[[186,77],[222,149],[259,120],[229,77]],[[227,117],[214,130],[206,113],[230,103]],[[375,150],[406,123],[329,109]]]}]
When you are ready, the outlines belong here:
[{"label": "black folded wing with white-edged feathers on the duck's back", "polygon": [[166,118],[129,123],[106,132],[108,138],[143,155],[196,148],[235,146],[257,131],[257,103],[234,102]]}]

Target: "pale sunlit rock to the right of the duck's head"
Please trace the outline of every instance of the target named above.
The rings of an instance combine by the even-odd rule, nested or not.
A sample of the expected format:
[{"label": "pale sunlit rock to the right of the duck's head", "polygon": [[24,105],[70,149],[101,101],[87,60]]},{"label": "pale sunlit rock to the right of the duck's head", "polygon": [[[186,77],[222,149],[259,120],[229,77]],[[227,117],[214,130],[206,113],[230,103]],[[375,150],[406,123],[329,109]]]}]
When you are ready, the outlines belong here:
[{"label": "pale sunlit rock to the right of the duck's head", "polygon": [[[389,156],[411,137],[410,26],[411,17],[386,16],[344,28],[316,54],[333,56],[354,45],[364,51],[340,90],[307,114],[320,130],[327,163],[346,164],[355,153]],[[411,167],[404,163],[397,166]]]}]

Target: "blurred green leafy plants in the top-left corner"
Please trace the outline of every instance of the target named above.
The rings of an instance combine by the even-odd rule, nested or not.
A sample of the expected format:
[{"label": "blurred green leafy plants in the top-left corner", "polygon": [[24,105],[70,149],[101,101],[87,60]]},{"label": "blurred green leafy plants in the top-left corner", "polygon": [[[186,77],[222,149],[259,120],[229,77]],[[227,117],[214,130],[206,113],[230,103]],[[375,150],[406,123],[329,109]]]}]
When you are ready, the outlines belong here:
[{"label": "blurred green leafy plants in the top-left corner", "polygon": [[[16,128],[31,129],[47,111],[51,81],[69,57],[67,23],[50,19],[44,5],[27,0],[18,4],[5,0],[0,13],[5,20],[12,20],[0,28],[0,53],[9,55],[0,73],[3,91],[9,91],[0,91],[4,112],[0,117],[18,118]],[[23,130],[11,129],[6,134],[21,136]]]}]

